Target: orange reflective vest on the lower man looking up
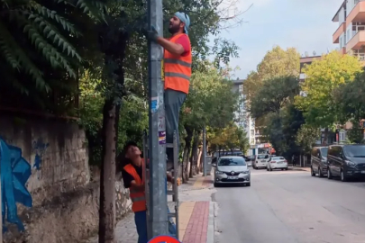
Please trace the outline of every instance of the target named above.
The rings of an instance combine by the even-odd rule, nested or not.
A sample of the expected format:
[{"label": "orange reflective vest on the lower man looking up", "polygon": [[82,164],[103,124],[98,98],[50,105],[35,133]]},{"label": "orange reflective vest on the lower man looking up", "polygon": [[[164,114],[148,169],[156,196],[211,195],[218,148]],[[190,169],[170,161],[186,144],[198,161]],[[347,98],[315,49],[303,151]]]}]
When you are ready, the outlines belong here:
[{"label": "orange reflective vest on the lower man looking up", "polygon": [[[143,168],[143,160],[142,160],[142,168]],[[143,183],[143,179],[141,179],[140,175],[138,175],[137,171],[135,170],[135,168],[131,165],[128,164],[126,166],[123,167],[123,169],[130,175],[132,175],[132,177],[134,178],[134,181],[137,184],[142,184]],[[144,188],[142,190],[136,190],[135,188],[130,187],[129,188],[129,193],[130,193],[130,197],[132,200],[132,211],[145,211],[147,210],[146,208],[146,196],[144,193]]]}]

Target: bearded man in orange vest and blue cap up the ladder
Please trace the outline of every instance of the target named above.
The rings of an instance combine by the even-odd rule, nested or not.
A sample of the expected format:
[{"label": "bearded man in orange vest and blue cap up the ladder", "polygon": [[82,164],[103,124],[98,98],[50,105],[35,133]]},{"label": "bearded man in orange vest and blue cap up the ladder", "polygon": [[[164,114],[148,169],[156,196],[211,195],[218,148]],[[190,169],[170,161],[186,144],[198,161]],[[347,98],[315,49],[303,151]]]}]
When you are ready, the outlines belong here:
[{"label": "bearded man in orange vest and blue cap up the ladder", "polygon": [[[190,18],[187,14],[178,12],[169,20],[169,32],[171,37],[165,39],[158,36],[157,31],[152,27],[147,31],[147,39],[155,41],[164,48],[164,103],[166,116],[166,142],[173,142],[174,130],[178,136],[178,115],[182,104],[187,98],[191,76],[192,53],[188,28]],[[173,167],[173,148],[166,149],[168,167]]]}]

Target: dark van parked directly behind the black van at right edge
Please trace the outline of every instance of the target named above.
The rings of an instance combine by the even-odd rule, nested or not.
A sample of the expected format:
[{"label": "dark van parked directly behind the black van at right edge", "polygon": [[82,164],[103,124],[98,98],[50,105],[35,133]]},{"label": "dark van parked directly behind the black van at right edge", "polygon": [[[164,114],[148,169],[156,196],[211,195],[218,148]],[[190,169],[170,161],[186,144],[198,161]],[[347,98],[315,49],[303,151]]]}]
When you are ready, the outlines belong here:
[{"label": "dark van parked directly behind the black van at right edge", "polygon": [[323,177],[327,174],[328,147],[314,147],[311,153],[311,175]]}]

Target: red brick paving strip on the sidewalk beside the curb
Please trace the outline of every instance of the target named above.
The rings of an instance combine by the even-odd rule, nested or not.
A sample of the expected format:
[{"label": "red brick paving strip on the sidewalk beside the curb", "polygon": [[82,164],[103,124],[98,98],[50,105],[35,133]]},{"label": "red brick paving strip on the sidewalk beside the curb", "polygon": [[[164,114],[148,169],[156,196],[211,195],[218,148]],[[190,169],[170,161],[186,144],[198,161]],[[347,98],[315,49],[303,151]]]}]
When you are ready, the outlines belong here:
[{"label": "red brick paving strip on the sidewalk beside the curb", "polygon": [[209,202],[196,202],[182,243],[206,243]]}]

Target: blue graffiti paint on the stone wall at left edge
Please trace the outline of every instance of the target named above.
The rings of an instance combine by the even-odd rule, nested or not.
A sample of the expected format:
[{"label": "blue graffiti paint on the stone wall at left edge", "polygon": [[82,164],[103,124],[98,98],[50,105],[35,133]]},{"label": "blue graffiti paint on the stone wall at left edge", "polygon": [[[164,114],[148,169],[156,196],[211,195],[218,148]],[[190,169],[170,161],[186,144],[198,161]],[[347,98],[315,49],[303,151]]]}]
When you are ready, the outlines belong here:
[{"label": "blue graffiti paint on the stone wall at left edge", "polygon": [[[18,217],[16,202],[32,207],[32,195],[25,186],[32,175],[31,165],[23,158],[21,148],[8,145],[0,138],[0,166],[3,222],[7,213],[6,221],[16,224],[23,231],[24,226]],[[5,230],[3,227],[3,232]]]}]

